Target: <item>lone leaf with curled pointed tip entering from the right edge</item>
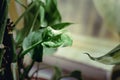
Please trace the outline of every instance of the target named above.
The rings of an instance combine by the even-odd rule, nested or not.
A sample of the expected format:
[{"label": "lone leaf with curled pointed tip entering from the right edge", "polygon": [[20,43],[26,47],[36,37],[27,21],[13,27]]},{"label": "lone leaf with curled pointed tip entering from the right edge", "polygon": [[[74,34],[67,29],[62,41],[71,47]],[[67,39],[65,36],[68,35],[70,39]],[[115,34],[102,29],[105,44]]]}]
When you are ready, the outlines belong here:
[{"label": "lone leaf with curled pointed tip entering from the right edge", "polygon": [[103,64],[108,65],[114,65],[114,64],[120,64],[120,45],[115,47],[113,50],[108,52],[107,54],[101,56],[101,57],[92,57],[88,53],[86,53],[90,59],[101,62]]}]

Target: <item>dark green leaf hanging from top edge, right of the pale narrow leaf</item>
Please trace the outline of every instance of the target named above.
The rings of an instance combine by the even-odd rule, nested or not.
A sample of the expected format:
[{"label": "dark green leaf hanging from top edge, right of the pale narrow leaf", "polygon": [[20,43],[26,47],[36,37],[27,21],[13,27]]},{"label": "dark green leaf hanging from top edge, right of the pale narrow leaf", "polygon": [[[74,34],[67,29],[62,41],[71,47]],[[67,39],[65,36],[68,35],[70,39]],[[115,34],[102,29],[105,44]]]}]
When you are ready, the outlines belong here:
[{"label": "dark green leaf hanging from top edge, right of the pale narrow leaf", "polygon": [[45,20],[47,21],[48,26],[57,24],[61,22],[61,15],[57,9],[56,0],[45,0]]}]

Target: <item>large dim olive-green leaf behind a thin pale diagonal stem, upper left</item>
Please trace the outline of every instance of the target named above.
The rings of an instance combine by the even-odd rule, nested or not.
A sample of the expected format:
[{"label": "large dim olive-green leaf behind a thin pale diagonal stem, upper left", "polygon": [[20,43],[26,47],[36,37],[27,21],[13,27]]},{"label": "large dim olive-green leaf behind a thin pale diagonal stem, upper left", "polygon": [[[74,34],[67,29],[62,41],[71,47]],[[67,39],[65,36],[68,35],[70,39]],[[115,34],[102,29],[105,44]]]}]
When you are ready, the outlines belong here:
[{"label": "large dim olive-green leaf behind a thin pale diagonal stem, upper left", "polygon": [[[41,2],[32,2],[28,5],[24,15],[24,27],[17,31],[16,42],[22,43],[23,39],[32,31],[36,31],[43,24],[44,8]],[[17,21],[16,21],[17,22]]]}]

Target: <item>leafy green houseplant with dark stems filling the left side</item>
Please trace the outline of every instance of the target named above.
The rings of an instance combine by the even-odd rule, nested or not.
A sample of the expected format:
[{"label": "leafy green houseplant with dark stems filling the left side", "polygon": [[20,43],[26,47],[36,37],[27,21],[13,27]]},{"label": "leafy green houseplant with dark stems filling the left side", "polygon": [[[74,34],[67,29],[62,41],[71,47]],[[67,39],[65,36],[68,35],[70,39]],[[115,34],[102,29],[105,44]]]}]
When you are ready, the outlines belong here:
[{"label": "leafy green houseplant with dark stems filling the left side", "polygon": [[[71,23],[61,22],[56,0],[31,0],[28,5],[15,0],[25,11],[12,22],[8,19],[10,1],[0,0],[0,80],[29,79],[31,67],[34,62],[42,62],[46,49],[56,51],[58,47],[72,45],[72,39],[64,30]],[[17,30],[21,19],[24,26]],[[26,54],[32,62],[24,67]]]}]

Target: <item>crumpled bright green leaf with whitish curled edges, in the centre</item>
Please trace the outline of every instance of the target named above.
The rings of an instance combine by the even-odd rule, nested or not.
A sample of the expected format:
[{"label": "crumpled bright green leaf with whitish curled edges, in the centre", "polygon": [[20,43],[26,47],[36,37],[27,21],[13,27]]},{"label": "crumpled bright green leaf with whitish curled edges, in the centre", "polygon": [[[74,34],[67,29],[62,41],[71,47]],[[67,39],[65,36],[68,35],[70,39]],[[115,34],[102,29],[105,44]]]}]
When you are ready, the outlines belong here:
[{"label": "crumpled bright green leaf with whitish curled edges, in the centre", "polygon": [[72,39],[62,30],[54,30],[51,27],[47,27],[43,33],[42,45],[49,48],[65,47],[72,45]]}]

